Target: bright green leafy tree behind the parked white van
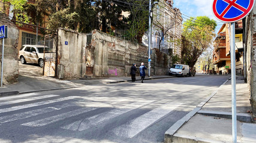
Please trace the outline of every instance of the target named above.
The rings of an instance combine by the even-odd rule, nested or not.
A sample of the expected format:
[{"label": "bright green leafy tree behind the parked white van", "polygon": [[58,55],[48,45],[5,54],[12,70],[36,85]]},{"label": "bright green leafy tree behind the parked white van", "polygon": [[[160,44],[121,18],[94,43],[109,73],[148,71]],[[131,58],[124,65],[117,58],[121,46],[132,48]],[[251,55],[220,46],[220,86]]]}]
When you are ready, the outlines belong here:
[{"label": "bright green leafy tree behind the parked white van", "polygon": [[216,25],[216,21],[206,16],[185,21],[181,42],[182,63],[194,67],[200,55],[212,44]]}]

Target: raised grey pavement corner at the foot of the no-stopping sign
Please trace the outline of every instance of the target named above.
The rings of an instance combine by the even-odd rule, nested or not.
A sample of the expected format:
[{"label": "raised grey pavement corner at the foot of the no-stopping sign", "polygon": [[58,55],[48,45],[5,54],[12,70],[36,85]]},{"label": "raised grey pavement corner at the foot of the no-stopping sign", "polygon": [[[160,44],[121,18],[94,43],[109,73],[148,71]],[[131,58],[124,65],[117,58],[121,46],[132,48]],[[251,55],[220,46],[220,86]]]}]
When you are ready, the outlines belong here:
[{"label": "raised grey pavement corner at the foot of the no-stopping sign", "polygon": [[[237,122],[238,142],[242,142],[241,128]],[[232,120],[196,114],[174,134],[173,142],[233,142]]]}]

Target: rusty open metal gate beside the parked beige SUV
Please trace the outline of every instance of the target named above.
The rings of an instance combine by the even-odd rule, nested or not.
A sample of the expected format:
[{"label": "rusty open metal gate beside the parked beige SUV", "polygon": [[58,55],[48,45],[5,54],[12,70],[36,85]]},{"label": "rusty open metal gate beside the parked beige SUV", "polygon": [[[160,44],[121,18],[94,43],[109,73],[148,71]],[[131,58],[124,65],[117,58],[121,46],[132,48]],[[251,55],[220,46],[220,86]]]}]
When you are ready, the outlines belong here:
[{"label": "rusty open metal gate beside the parked beige SUV", "polygon": [[[55,77],[58,64],[57,33],[44,36],[44,76]],[[47,50],[50,49],[50,50]]]}]

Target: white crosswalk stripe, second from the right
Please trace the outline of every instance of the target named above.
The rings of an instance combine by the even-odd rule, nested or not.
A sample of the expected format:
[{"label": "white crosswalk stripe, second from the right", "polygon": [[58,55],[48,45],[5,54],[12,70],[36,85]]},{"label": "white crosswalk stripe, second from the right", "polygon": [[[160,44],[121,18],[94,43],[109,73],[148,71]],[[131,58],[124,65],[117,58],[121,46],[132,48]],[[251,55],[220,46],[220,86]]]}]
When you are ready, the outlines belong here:
[{"label": "white crosswalk stripe, second from the right", "polygon": [[[153,101],[150,101],[153,102]],[[107,120],[113,119],[114,117],[120,116],[121,114],[127,113],[128,111],[134,110],[135,108],[142,107],[143,105],[149,104],[149,101],[144,102],[135,102],[132,104],[125,105],[120,108],[115,108],[113,110],[83,119],[76,122],[71,123],[70,125],[62,127],[62,129],[68,130],[86,130],[91,128],[92,126],[97,126],[100,123],[103,123]]]}]

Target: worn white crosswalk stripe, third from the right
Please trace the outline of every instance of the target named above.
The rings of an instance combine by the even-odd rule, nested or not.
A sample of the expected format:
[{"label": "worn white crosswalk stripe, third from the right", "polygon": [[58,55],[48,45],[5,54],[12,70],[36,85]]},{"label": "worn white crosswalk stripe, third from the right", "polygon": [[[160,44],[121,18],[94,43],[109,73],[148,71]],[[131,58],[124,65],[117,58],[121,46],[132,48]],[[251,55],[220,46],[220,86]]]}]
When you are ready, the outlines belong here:
[{"label": "worn white crosswalk stripe, third from the right", "polygon": [[97,109],[96,107],[88,107],[88,108],[80,108],[74,111],[69,111],[67,113],[63,113],[63,114],[59,114],[56,116],[52,116],[52,117],[48,117],[46,119],[41,119],[41,120],[36,120],[33,122],[28,122],[28,123],[23,123],[23,126],[31,126],[31,127],[40,127],[40,126],[45,126],[45,125],[49,125],[50,123],[55,123],[58,122],[59,120],[64,120],[65,118],[68,117],[73,117],[73,116],[77,116],[79,114],[82,113],[86,113],[92,110]]}]

